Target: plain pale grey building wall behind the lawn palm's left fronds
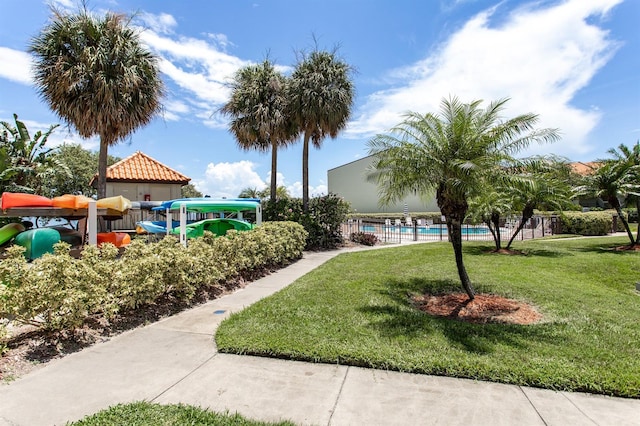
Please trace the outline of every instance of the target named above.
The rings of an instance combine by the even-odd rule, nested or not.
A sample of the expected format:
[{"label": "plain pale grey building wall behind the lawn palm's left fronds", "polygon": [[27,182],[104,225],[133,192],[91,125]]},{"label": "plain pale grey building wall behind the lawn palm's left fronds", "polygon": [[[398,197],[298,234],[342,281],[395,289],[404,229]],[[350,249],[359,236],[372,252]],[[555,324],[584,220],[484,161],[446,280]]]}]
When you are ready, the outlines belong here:
[{"label": "plain pale grey building wall behind the lawn palm's left fronds", "polygon": [[440,209],[435,197],[428,202],[420,200],[418,196],[407,196],[394,205],[381,207],[378,205],[378,186],[366,179],[367,168],[373,157],[365,157],[351,163],[327,171],[329,192],[344,198],[358,213],[402,213],[404,204],[410,212],[437,212]]}]

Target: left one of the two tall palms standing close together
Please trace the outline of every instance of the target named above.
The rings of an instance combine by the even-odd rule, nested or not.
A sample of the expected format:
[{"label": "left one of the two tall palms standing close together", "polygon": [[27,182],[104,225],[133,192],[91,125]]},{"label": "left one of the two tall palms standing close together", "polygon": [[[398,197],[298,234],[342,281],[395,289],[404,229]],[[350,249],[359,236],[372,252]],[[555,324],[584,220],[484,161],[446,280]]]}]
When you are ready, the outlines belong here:
[{"label": "left one of the two tall palms standing close together", "polygon": [[271,200],[277,197],[278,148],[293,142],[286,97],[287,79],[269,60],[238,70],[229,101],[221,112],[232,117],[229,129],[244,150],[271,150]]}]

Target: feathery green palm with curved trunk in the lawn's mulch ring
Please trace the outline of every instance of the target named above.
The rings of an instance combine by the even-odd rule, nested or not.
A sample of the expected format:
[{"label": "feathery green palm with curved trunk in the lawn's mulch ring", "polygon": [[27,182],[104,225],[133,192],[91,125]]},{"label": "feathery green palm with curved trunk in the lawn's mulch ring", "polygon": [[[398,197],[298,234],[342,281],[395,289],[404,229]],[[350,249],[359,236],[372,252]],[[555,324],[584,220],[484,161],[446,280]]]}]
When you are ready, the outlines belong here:
[{"label": "feathery green palm with curved trunk in the lawn's mulch ring", "polygon": [[401,200],[408,193],[428,197],[435,189],[453,246],[458,276],[469,299],[475,289],[462,256],[462,223],[469,200],[480,192],[487,177],[513,160],[531,142],[551,142],[554,129],[535,130],[534,114],[501,121],[507,99],[469,104],[443,99],[440,114],[409,112],[389,134],[369,141],[375,155],[369,178],[377,181],[381,204]]}]

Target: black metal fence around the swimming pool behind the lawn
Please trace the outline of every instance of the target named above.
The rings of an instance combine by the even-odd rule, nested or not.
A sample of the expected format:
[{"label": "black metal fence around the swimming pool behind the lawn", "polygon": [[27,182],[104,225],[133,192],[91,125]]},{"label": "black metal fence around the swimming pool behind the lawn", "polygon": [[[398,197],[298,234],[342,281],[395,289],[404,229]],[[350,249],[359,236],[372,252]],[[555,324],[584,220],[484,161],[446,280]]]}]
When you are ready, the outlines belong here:
[{"label": "black metal fence around the swimming pool behind the lawn", "polygon": [[[516,232],[520,218],[510,217],[500,227],[500,239],[506,244]],[[354,232],[373,234],[385,243],[403,241],[447,241],[445,223],[432,220],[400,219],[349,219],[342,225],[342,235],[349,238]],[[516,239],[526,240],[554,235],[560,232],[560,220],[555,216],[534,216],[528,220]],[[465,223],[462,226],[463,241],[491,241],[493,235],[484,224]]]}]

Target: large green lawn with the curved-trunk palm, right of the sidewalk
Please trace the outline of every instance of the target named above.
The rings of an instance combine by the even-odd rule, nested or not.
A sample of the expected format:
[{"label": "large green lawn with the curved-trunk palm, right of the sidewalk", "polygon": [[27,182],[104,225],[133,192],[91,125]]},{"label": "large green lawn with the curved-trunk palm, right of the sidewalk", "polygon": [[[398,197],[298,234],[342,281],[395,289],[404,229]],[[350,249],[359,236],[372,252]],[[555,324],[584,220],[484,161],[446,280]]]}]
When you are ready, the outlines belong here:
[{"label": "large green lawn with the curved-trunk palm, right of the sidewalk", "polygon": [[431,317],[410,296],[460,291],[447,243],[341,254],[232,315],[221,352],[640,397],[640,253],[624,238],[533,240],[526,256],[465,243],[479,292],[535,305],[542,322]]}]

